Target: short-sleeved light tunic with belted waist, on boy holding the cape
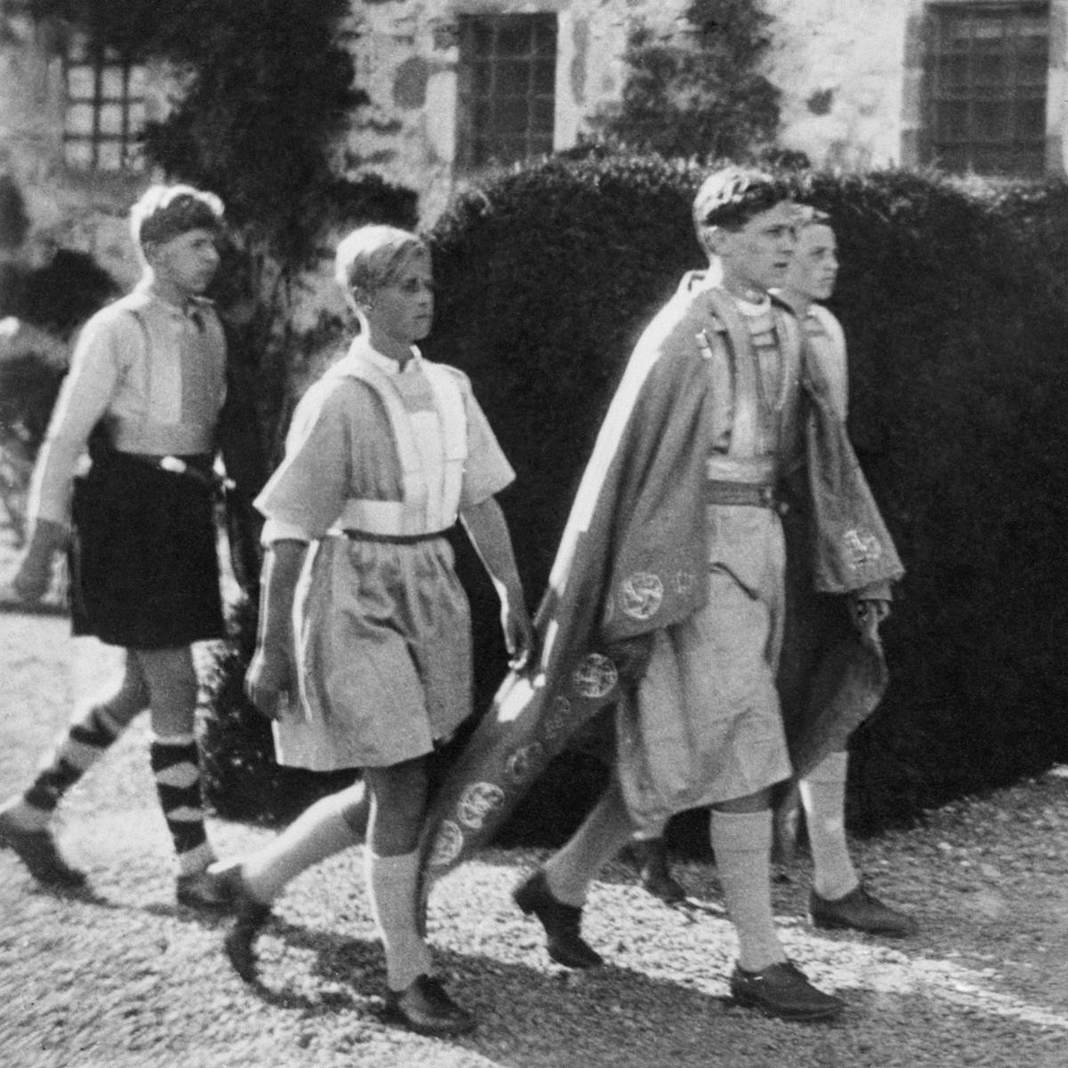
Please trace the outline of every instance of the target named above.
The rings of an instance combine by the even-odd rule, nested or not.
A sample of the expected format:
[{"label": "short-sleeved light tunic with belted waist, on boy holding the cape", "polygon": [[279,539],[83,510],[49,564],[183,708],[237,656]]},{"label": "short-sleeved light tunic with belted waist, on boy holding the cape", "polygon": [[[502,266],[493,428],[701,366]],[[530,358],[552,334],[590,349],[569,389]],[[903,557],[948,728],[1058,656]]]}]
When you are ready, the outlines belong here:
[{"label": "short-sleeved light tunic with belted waist, on boy holding the cape", "polygon": [[343,531],[388,533],[391,517],[397,534],[443,531],[514,477],[454,368],[415,355],[402,372],[358,340],[308,391],[256,500],[265,539],[317,543],[295,600],[301,700],[276,724],[280,763],[387,767],[428,753],[470,714],[470,611],[452,547]]}]

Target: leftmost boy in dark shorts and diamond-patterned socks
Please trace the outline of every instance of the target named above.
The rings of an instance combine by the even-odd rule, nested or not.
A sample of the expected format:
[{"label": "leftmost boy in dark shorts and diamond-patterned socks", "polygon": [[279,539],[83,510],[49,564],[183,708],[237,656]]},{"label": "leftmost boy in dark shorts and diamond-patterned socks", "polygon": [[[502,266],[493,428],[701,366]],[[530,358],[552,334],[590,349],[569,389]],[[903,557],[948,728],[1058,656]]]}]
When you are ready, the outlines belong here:
[{"label": "leftmost boy in dark shorts and diamond-patterned socks", "polygon": [[[82,329],[34,471],[32,534],[15,592],[38,600],[69,545],[74,632],[125,649],[117,688],[76,712],[30,786],[0,806],[0,845],[47,885],[85,879],[49,830],[59,801],[148,708],[177,900],[226,904],[205,874],[215,854],[193,737],[191,650],[223,633],[213,465],[226,345],[203,296],[219,266],[221,226],[222,203],[189,186],[155,186],[134,205],[141,281]],[[76,478],[87,447],[92,466]]]}]

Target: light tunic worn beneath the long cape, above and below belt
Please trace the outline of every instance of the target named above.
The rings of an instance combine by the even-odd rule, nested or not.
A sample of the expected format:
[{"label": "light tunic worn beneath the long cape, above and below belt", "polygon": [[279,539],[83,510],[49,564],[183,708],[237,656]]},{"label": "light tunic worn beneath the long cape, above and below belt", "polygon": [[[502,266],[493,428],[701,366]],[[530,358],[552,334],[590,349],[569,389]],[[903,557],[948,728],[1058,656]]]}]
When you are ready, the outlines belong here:
[{"label": "light tunic worn beneath the long cape, above and below belt", "polygon": [[[740,397],[735,356],[725,336],[709,329],[709,477],[775,483],[797,454],[800,364],[780,343],[770,309],[741,304],[741,311],[756,396]],[[749,505],[709,504],[707,519],[708,603],[654,632],[637,700],[618,712],[624,794],[632,816],[649,826],[790,774],[775,690],[785,611],[782,523],[774,509]],[[643,766],[628,767],[628,753],[640,753]],[[662,810],[648,808],[647,791],[635,785],[644,776],[656,784]]]}]

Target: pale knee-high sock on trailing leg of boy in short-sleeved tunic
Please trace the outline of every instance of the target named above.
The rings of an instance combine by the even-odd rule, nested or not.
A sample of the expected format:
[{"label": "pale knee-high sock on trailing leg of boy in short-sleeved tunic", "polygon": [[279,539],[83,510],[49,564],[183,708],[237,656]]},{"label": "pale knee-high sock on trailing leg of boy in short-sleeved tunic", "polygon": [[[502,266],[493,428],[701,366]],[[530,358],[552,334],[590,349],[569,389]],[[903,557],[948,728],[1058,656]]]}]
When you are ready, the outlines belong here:
[{"label": "pale knee-high sock on trailing leg of boy in short-sleeved tunic", "polygon": [[266,905],[301,871],[363,842],[364,835],[351,826],[350,812],[365,803],[362,784],[316,801],[272,842],[244,859],[245,889]]}]

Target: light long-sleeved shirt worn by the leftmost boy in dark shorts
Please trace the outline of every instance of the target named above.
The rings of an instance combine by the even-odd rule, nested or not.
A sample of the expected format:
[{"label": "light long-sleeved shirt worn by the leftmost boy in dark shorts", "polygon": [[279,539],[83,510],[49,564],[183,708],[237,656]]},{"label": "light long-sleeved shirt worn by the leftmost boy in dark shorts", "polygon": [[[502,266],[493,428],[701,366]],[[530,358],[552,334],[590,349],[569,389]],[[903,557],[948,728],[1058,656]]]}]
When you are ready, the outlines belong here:
[{"label": "light long-sleeved shirt worn by the leftmost boy in dark shorts", "polygon": [[226,343],[210,301],[178,308],[147,283],[82,328],[34,469],[30,517],[67,523],[70,482],[104,423],[122,453],[208,455],[226,392]]}]

